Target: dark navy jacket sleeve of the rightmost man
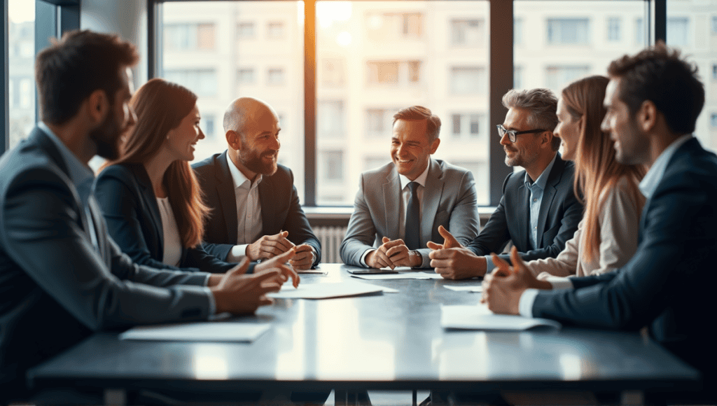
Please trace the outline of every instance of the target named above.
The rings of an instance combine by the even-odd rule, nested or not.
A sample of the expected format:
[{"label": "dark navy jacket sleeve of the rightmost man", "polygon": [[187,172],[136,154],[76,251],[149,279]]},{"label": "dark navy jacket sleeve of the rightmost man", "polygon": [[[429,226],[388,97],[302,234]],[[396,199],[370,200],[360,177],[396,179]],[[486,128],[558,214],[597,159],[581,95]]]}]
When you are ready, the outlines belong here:
[{"label": "dark navy jacket sleeve of the rightmost man", "polygon": [[[541,291],[533,316],[587,327],[639,329],[670,301],[684,301],[686,292],[698,290],[695,280],[713,285],[711,269],[704,269],[714,253],[713,202],[704,192],[714,188],[713,179],[708,184],[690,175],[660,182],[670,186],[658,189],[645,207],[642,242],[625,267],[573,278],[575,289]],[[692,275],[696,273],[702,276]]]}]

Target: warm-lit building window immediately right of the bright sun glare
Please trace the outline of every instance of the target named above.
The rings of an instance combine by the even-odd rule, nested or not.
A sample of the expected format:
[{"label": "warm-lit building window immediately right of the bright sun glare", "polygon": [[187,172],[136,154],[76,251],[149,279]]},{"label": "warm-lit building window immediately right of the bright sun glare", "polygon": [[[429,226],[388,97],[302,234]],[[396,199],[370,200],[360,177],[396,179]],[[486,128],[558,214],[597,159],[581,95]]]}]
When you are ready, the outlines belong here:
[{"label": "warm-lit building window immediately right of the bright sun glare", "polygon": [[422,24],[423,15],[416,12],[369,11],[366,14],[366,34],[374,41],[420,39],[423,34]]}]

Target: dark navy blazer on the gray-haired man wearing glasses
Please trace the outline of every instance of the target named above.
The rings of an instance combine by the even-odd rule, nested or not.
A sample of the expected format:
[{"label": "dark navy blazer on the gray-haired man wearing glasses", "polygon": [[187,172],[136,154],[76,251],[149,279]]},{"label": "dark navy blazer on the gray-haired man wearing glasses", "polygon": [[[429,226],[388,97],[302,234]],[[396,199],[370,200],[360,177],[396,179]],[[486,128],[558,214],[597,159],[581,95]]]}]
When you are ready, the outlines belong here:
[{"label": "dark navy blazer on the gray-haired man wearing glasses", "polygon": [[[468,245],[475,255],[503,252],[513,241],[523,260],[555,258],[578,229],[583,207],[573,192],[575,165],[563,161],[560,153],[548,176],[540,212],[538,212],[538,249],[531,247],[530,197],[525,185],[526,171],[509,174],[503,182],[503,197],[495,212]],[[510,262],[509,255],[500,258]],[[490,270],[488,270],[490,272]]]}]

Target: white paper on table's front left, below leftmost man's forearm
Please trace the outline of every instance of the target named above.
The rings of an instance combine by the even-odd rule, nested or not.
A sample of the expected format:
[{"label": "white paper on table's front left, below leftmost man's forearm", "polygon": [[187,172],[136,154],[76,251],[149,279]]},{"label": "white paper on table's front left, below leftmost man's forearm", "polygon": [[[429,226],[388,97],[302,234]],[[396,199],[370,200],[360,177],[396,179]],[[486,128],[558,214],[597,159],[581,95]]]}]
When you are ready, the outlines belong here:
[{"label": "white paper on table's front left, below leftmost man's forearm", "polygon": [[269,324],[236,322],[136,326],[120,334],[120,340],[251,342],[269,328]]}]

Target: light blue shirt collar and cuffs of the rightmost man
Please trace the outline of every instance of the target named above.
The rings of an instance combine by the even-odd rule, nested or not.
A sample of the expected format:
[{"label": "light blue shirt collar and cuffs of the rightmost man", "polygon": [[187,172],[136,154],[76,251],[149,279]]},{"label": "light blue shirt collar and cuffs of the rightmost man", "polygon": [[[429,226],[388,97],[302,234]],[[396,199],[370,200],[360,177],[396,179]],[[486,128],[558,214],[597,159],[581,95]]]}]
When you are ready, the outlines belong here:
[{"label": "light blue shirt collar and cuffs of the rightmost man", "polygon": [[[675,155],[675,151],[677,151],[680,146],[683,146],[684,143],[690,141],[691,138],[692,134],[681,136],[665,148],[665,151],[655,159],[655,163],[650,166],[650,171],[647,171],[645,177],[640,181],[640,192],[645,196],[645,199],[650,200],[652,194],[655,193],[655,189],[657,189],[657,185],[660,184],[660,181],[663,180],[665,169],[667,169],[670,160],[673,155]],[[553,285],[554,290],[573,288],[573,283],[570,281],[570,278],[550,278],[549,282]],[[518,310],[521,316],[533,317],[533,303],[536,301],[538,292],[540,292],[540,289],[526,289],[526,291],[523,292],[521,301],[518,303]]]}]

